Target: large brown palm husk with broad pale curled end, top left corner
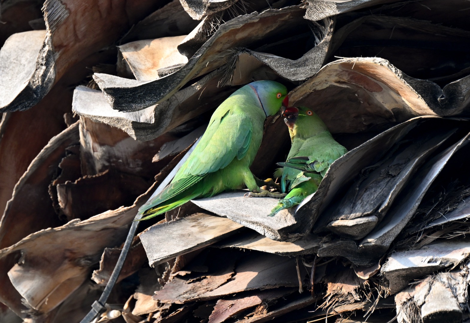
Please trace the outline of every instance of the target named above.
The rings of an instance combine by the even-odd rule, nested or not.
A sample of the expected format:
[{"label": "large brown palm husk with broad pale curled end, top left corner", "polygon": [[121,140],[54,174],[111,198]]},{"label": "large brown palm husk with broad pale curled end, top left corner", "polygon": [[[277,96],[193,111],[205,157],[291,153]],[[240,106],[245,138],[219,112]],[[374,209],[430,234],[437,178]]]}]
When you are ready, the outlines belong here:
[{"label": "large brown palm husk with broad pale curled end, top left corner", "polygon": [[[161,4],[164,4],[161,3]],[[2,54],[20,55],[22,60],[6,61],[7,66],[0,68],[3,100],[0,111],[26,110],[39,102],[64,74],[76,63],[88,55],[98,52],[103,47],[117,40],[120,33],[130,24],[143,18],[147,10],[158,6],[153,1],[122,3],[111,10],[110,3],[98,4],[96,1],[71,3],[47,0],[42,8],[46,31],[28,31],[22,35],[27,39],[17,40],[13,35],[11,47],[4,46]],[[93,8],[93,9],[92,9]],[[82,19],[81,17],[87,17]],[[125,19],[122,19],[125,17]],[[93,23],[92,23],[93,22]],[[70,30],[73,29],[73,38]],[[97,34],[94,30],[101,30]],[[93,34],[93,37],[89,37]],[[17,51],[19,44],[31,44],[28,51]],[[5,62],[2,60],[2,62]],[[13,63],[12,63],[13,62]],[[24,70],[24,65],[29,66]],[[7,78],[12,70],[24,70],[15,79]]]}]

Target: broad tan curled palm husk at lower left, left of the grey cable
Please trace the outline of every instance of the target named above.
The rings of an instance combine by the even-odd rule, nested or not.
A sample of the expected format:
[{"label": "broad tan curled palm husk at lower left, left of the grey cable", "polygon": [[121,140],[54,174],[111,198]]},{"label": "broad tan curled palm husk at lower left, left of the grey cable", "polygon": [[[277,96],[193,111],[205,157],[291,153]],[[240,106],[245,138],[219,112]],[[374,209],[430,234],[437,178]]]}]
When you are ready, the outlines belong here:
[{"label": "broad tan curled palm husk at lower left, left of the grey cable", "polygon": [[[2,259],[7,259],[17,250],[24,254],[24,260],[9,270],[9,277],[16,290],[22,292],[28,306],[39,313],[47,313],[77,289],[90,273],[90,267],[99,261],[104,247],[116,246],[125,237],[127,225],[153,187],[130,207],[107,211],[85,221],[75,219],[63,226],[31,234],[3,249]],[[96,239],[97,232],[101,236],[100,241]],[[76,242],[70,248],[68,244],[72,237]],[[63,247],[58,257],[58,251]],[[41,268],[36,265],[37,261],[43,264]],[[31,279],[38,282],[38,289],[30,288],[28,282]]]}]

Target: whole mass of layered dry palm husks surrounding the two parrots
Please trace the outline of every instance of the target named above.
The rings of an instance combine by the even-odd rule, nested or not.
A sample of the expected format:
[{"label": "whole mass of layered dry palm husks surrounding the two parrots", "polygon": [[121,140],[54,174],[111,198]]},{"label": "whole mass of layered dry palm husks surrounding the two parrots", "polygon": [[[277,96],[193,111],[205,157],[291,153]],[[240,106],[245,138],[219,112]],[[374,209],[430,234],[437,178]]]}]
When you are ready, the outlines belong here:
[{"label": "whole mass of layered dry palm husks surrounding the two parrots", "polygon": [[[469,322],[469,9],[0,0],[0,322],[80,322],[137,209],[255,80],[349,152],[275,217],[239,191],[141,222],[98,322]],[[289,148],[268,118],[253,173]]]}]

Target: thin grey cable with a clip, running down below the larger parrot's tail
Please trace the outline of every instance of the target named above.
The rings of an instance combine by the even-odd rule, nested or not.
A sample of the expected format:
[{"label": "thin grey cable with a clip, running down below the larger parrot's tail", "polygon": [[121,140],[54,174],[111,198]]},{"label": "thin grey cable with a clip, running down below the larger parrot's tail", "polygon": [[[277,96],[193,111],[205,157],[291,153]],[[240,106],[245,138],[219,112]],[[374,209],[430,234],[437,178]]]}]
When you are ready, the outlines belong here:
[{"label": "thin grey cable with a clip, running down below the larger parrot's tail", "polygon": [[92,309],[80,321],[80,323],[92,322],[96,318],[96,316],[100,315],[101,311],[105,308],[104,305],[106,304],[108,297],[110,297],[111,290],[113,289],[114,285],[116,284],[116,281],[118,280],[119,273],[121,272],[122,266],[124,265],[125,258],[127,257],[127,254],[129,253],[129,249],[131,248],[135,231],[137,231],[137,227],[139,226],[140,221],[135,221],[135,220],[140,220],[140,219],[141,219],[141,215],[135,216],[134,221],[129,229],[129,233],[127,233],[127,238],[125,238],[124,246],[121,250],[121,254],[119,255],[118,262],[116,263],[116,266],[113,269],[113,272],[110,276],[110,279],[108,280],[108,283],[106,284],[106,287],[104,287],[104,290],[100,298],[94,301],[93,305],[91,306]]}]

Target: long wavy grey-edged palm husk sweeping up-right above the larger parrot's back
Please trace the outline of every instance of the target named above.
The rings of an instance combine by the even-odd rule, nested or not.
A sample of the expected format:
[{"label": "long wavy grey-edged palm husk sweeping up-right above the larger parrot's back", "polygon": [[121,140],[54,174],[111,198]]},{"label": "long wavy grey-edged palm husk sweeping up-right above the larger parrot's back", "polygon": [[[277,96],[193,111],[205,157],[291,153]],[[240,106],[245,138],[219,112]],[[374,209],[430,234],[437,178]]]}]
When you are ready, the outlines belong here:
[{"label": "long wavy grey-edged palm husk sweeping up-right above the larger parrot's back", "polygon": [[[133,81],[105,74],[95,74],[94,79],[112,108],[127,112],[141,110],[168,99],[191,78],[222,66],[225,63],[224,56],[229,54],[227,50],[253,45],[263,39],[278,38],[279,34],[289,32],[293,25],[302,19],[303,12],[298,6],[292,6],[238,16],[221,24],[181,69],[154,81]],[[260,29],[262,25],[269,25],[269,29]],[[189,34],[188,37],[198,37],[197,28],[195,31],[196,35]],[[245,37],[233,38],[233,33],[243,34]],[[214,60],[214,57],[217,59]],[[136,92],[142,93],[138,96],[139,101],[128,100]]]}]

